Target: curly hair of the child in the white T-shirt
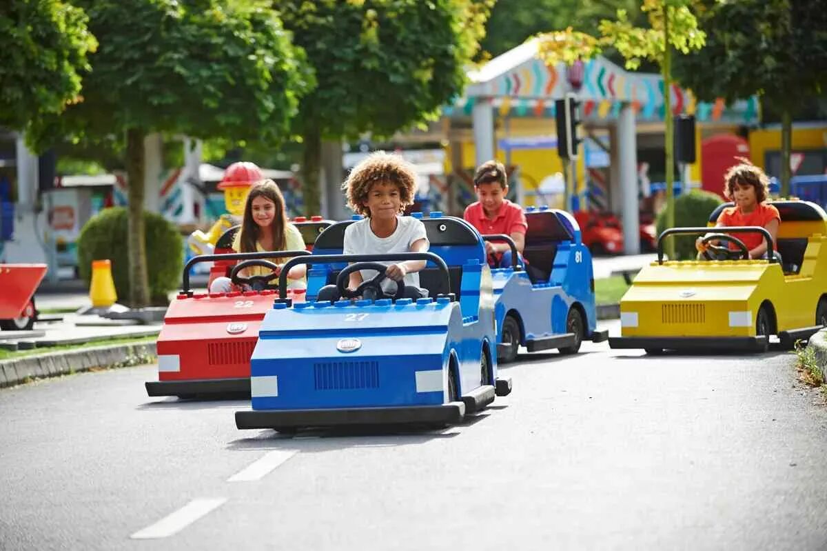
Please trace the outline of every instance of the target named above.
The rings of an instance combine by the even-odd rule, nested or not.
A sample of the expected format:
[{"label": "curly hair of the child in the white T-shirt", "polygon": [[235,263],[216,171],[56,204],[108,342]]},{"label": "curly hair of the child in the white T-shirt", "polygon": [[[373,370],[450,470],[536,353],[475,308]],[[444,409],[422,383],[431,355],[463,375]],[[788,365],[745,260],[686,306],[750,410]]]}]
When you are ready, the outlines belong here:
[{"label": "curly hair of the child in the white T-shirt", "polygon": [[354,166],[342,184],[347,206],[357,214],[370,217],[370,209],[365,206],[365,202],[370,193],[370,186],[380,182],[395,184],[399,188],[400,213],[404,212],[405,207],[414,204],[417,187],[414,165],[405,161],[402,156],[375,151]]}]

